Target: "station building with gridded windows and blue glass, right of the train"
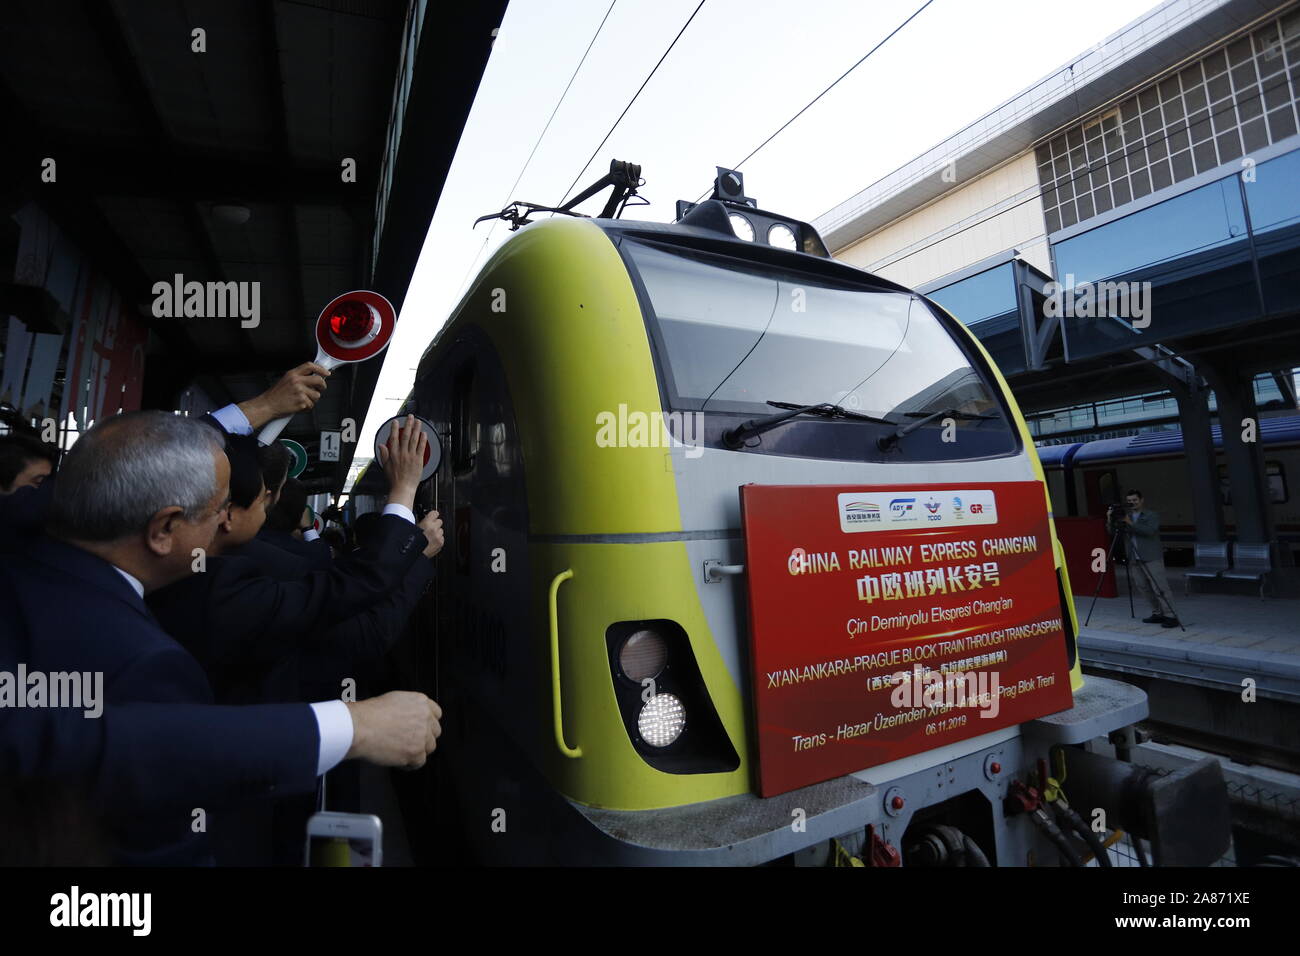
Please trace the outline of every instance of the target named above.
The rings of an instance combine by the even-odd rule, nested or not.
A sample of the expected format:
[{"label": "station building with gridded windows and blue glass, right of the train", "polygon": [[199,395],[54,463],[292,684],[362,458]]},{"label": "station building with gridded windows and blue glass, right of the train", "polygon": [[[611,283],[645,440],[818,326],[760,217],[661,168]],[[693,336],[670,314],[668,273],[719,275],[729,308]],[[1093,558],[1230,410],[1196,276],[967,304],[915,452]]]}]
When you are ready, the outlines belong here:
[{"label": "station building with gridded windows and blue glass, right of the train", "polygon": [[1188,538],[1291,564],[1242,423],[1296,431],[1297,94],[1300,4],[1167,0],[814,225],[966,323],[1040,445],[1180,428]]}]

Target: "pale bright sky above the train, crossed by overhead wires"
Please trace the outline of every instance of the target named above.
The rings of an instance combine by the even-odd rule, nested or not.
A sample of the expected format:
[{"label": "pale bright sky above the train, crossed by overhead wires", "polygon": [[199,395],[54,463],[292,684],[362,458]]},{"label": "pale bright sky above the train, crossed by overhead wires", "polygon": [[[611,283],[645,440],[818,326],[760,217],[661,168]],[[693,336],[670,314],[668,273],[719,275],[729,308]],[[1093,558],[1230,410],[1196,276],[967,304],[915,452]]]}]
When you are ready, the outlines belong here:
[{"label": "pale bright sky above the train, crossed by overhead wires", "polygon": [[[922,3],[705,0],[690,20],[698,0],[615,0],[612,10],[610,0],[511,0],[384,355],[350,484],[372,455],[374,432],[410,393],[424,350],[511,235],[499,221],[473,229],[478,216],[512,199],[559,204],[575,179],[572,191],[620,159],[641,164],[641,195],[651,202],[625,217],[671,221],[675,200],[698,199],[715,166],[734,168]],[[1152,7],[933,0],[741,166],[746,195],[762,208],[816,219]],[[581,209],[597,212],[606,195]]]}]

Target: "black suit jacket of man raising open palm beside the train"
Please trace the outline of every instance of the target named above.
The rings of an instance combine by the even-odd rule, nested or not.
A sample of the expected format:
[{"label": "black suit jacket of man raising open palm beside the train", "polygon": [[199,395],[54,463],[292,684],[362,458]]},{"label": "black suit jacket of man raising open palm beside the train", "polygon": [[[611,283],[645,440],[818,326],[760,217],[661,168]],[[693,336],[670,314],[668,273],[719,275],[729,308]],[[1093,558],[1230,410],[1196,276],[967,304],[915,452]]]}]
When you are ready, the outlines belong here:
[{"label": "black suit jacket of man raising open palm beside the train", "polygon": [[426,545],[415,524],[385,515],[369,546],[329,571],[278,581],[247,557],[218,555],[207,571],[150,594],[150,607],[203,665],[217,700],[250,700],[294,648],[396,588]]}]

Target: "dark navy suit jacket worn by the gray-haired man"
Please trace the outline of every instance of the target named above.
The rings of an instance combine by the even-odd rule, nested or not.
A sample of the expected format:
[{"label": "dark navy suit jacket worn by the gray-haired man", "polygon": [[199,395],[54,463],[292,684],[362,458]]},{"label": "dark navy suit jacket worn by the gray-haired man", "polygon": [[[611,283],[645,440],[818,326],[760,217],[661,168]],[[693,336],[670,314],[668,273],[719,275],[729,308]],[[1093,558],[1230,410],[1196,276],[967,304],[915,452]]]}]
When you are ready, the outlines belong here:
[{"label": "dark navy suit jacket worn by the gray-haired man", "polygon": [[110,564],[42,537],[25,557],[0,558],[0,580],[12,610],[0,669],[22,661],[29,672],[99,672],[105,704],[98,719],[69,709],[4,713],[0,767],[88,786],[117,862],[208,861],[205,834],[190,826],[191,809],[209,809],[205,799],[311,788],[320,744],[311,709],[208,706],[202,667]]}]

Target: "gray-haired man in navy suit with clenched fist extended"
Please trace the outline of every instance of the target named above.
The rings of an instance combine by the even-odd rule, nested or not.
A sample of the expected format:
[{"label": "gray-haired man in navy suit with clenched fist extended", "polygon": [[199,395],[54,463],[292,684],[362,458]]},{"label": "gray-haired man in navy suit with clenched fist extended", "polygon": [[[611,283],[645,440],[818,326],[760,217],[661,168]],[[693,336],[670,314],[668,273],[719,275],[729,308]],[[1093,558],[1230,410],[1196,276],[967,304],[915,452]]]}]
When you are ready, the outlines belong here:
[{"label": "gray-haired man in navy suit with clenched fist extended", "polygon": [[[187,575],[211,544],[228,475],[218,437],[196,421],[166,412],[108,419],[65,459],[51,537],[23,559],[0,558],[12,611],[0,627],[0,670],[17,661],[27,672],[98,674],[99,719],[108,718],[87,730],[74,723],[86,719],[79,713],[57,708],[3,713],[0,770],[82,782],[98,774],[101,786],[130,795],[129,810],[113,800],[104,806],[120,862],[208,858],[204,835],[190,826],[200,780],[224,778],[207,791],[218,797],[277,782],[303,787],[313,761],[316,774],[346,757],[419,765],[436,744],[441,714],[422,695],[287,710],[203,706],[212,696],[202,669],[157,626],[143,596]],[[134,705],[159,710],[146,715]],[[151,723],[159,718],[168,722],[161,730]],[[283,724],[255,730],[272,718]],[[211,730],[191,743],[212,749],[186,748],[178,734],[209,719],[225,722],[230,741],[247,749],[222,748]],[[159,763],[147,756],[152,747],[174,760]],[[235,774],[244,777],[231,784]],[[162,805],[170,812],[142,812]]]}]

